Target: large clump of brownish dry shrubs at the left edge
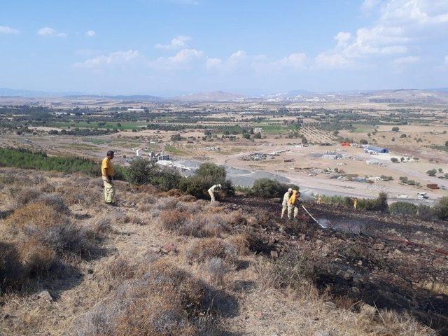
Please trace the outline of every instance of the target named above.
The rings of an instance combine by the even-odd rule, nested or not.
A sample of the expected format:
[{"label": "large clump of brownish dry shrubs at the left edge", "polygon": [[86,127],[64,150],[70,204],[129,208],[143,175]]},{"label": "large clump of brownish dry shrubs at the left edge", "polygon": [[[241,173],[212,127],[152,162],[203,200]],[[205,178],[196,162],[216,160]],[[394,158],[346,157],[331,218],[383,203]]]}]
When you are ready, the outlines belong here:
[{"label": "large clump of brownish dry shrubs at the left edge", "polygon": [[[6,250],[1,283],[20,285],[33,276],[45,275],[67,258],[90,257],[96,249],[94,239],[102,233],[100,230],[95,232],[74,224],[66,216],[68,209],[59,197],[48,195],[39,199],[16,209],[1,225],[1,235],[8,241],[1,246]],[[11,278],[15,273],[16,279]]]}]

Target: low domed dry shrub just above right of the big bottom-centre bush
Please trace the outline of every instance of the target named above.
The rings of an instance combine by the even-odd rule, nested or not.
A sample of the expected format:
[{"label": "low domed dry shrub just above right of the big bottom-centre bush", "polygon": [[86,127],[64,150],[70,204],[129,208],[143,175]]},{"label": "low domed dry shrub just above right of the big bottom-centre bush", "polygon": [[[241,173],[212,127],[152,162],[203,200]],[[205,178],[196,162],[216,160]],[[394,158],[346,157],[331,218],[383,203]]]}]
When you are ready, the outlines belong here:
[{"label": "low domed dry shrub just above right of the big bottom-centre bush", "polygon": [[237,249],[219,238],[204,238],[193,241],[186,251],[186,258],[195,262],[206,262],[211,258],[221,258],[226,262],[235,263]]}]

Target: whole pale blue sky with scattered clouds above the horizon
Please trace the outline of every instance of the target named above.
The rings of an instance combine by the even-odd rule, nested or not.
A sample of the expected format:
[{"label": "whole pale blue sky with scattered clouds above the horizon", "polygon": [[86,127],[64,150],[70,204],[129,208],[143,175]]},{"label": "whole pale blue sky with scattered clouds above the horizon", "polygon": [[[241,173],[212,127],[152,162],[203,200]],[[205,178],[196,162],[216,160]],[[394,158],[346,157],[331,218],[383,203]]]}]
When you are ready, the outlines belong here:
[{"label": "whole pale blue sky with scattered clouds above the horizon", "polygon": [[0,87],[169,95],[448,87],[447,0],[2,1]]}]

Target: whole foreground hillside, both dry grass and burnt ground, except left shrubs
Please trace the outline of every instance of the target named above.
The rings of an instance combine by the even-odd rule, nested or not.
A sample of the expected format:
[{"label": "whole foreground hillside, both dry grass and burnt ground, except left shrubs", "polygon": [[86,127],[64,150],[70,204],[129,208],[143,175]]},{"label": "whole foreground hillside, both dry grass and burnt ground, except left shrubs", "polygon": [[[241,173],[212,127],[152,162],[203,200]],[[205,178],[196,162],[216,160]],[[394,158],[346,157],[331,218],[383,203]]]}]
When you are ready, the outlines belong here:
[{"label": "whole foreground hillside, both dry grass and burnt ground, except left shrubs", "polygon": [[5,244],[35,238],[11,228],[48,194],[96,246],[3,286],[2,335],[448,335],[445,223],[306,204],[357,234],[281,220],[273,200],[118,182],[109,208],[98,179],[0,169],[0,181]]}]

